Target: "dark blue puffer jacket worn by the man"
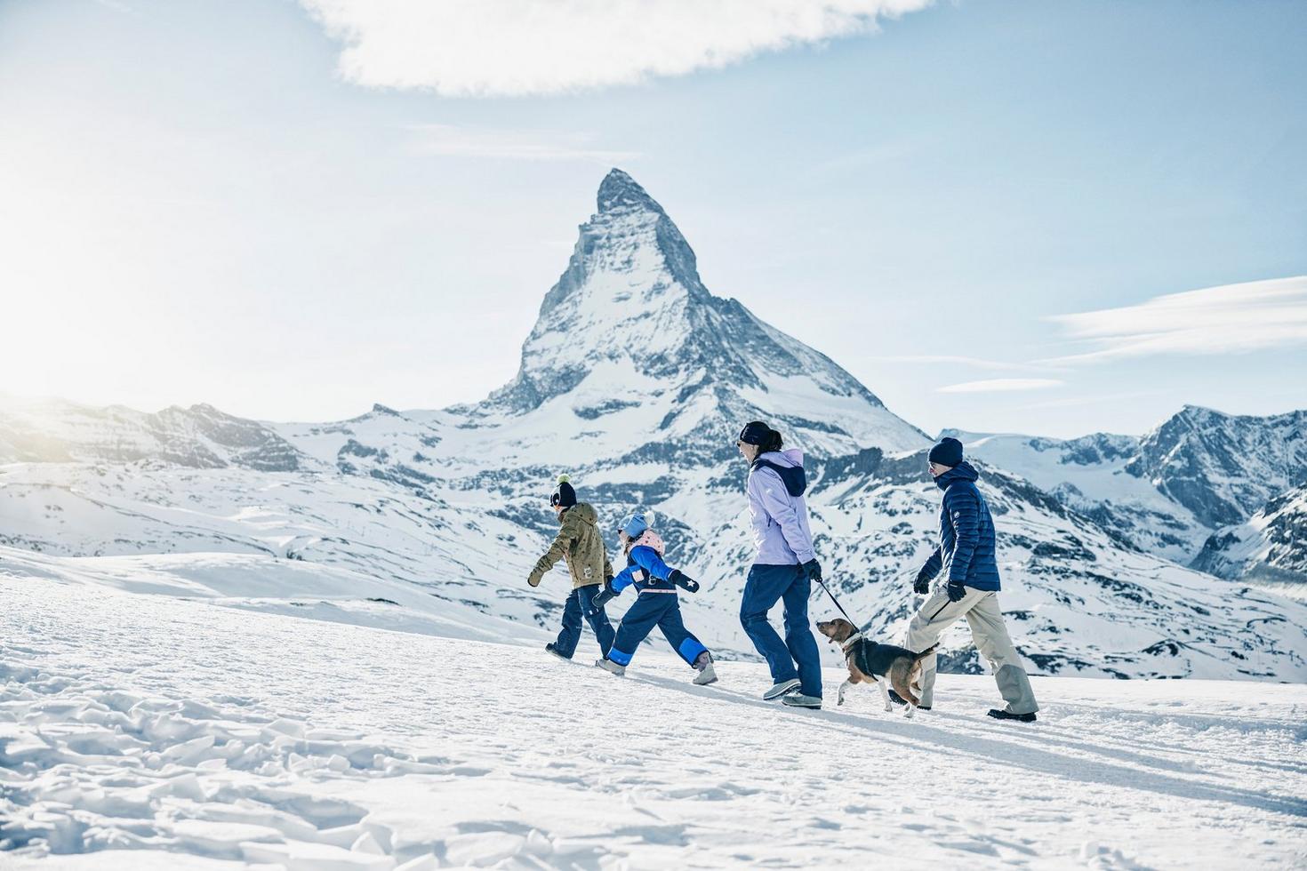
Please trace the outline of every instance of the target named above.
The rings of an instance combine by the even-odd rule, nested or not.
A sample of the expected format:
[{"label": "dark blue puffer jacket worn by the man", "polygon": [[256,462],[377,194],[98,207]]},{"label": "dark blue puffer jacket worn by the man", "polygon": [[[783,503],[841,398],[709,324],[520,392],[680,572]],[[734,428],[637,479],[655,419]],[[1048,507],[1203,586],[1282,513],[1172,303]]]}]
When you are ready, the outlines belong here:
[{"label": "dark blue puffer jacket worn by the man", "polygon": [[959,462],[935,479],[944,491],[940,509],[940,546],[921,569],[928,577],[941,571],[949,584],[978,590],[999,589],[999,560],[993,547],[993,518],[976,488],[980,477],[970,462]]}]

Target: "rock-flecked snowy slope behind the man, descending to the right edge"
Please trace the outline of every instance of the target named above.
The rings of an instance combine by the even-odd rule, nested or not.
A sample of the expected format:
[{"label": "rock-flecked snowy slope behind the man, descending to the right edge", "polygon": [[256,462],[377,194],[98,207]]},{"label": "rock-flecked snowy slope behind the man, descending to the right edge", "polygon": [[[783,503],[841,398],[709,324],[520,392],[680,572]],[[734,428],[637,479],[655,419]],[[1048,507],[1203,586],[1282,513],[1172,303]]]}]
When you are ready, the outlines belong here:
[{"label": "rock-flecked snowy slope behind the man, descending to the right edge", "polygon": [[[921,465],[923,456],[887,460],[813,498],[831,586],[877,637],[901,639],[920,601],[907,582],[935,545],[938,511],[938,490],[919,483]],[[982,466],[980,487],[999,531],[1004,610],[1033,671],[1307,676],[1307,614],[1297,605],[1124,548],[999,470]],[[816,605],[833,612],[821,595]],[[987,670],[965,627],[945,639],[951,669]]]}]

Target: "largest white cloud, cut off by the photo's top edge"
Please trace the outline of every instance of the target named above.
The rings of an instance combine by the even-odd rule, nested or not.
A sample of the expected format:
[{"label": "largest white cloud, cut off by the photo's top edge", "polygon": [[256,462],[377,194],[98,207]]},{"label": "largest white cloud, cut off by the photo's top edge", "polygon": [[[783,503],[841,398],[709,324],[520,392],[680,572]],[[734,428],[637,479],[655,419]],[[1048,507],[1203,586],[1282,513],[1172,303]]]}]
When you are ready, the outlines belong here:
[{"label": "largest white cloud, cut off by the photo's top edge", "polygon": [[873,33],[932,0],[301,0],[341,74],[446,97],[561,94]]}]

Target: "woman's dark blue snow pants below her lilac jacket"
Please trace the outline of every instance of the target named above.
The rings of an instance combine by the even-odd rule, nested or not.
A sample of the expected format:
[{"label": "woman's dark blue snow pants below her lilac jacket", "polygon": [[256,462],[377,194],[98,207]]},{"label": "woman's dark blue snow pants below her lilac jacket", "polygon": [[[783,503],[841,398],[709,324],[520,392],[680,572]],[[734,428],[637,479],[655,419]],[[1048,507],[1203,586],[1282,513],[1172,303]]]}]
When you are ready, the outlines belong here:
[{"label": "woman's dark blue snow pants below her lilac jacket", "polygon": [[[767,661],[774,683],[799,678],[805,696],[821,699],[821,653],[808,626],[810,593],[812,582],[801,567],[755,564],[744,585],[740,623]],[[767,622],[767,611],[776,602],[786,605],[784,641]]]}]

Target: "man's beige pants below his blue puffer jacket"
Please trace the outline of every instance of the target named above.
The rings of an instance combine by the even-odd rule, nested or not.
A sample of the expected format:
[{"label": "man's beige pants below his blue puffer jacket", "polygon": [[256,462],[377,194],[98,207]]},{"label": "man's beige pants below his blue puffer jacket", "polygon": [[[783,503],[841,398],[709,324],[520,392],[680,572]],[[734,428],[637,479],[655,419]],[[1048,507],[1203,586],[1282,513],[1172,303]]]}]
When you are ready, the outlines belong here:
[{"label": "man's beige pants below his blue puffer jacket", "polygon": [[[1008,637],[1008,627],[1002,622],[1002,611],[999,610],[999,594],[970,586],[965,589],[967,594],[957,602],[949,601],[942,586],[928,598],[908,624],[907,641],[903,646],[914,652],[925,650],[959,616],[967,618],[971,639],[980,656],[989,661],[999,692],[1008,703],[1008,710],[1014,714],[1035,713],[1039,705],[1035,704],[1035,693],[1030,688],[1030,678],[1021,665],[1017,648]],[[933,705],[935,700],[935,661],[933,653],[921,659],[921,704],[927,706]]]}]

